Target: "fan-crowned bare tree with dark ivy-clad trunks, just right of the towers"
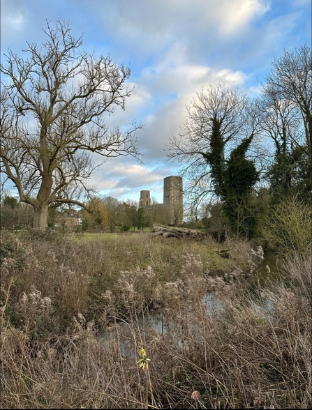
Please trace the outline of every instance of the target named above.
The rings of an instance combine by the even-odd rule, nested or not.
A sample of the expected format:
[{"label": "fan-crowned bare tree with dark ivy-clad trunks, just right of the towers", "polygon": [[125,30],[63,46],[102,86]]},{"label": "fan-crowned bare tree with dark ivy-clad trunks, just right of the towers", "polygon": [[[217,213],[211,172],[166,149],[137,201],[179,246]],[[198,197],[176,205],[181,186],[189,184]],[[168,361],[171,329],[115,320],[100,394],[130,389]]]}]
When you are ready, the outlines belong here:
[{"label": "fan-crowned bare tree with dark ivy-clad trunks, just right of the towers", "polygon": [[[238,210],[246,206],[246,197],[258,181],[255,164],[246,157],[260,131],[259,121],[255,103],[244,93],[211,86],[193,100],[188,121],[167,147],[168,158],[184,165],[182,174],[191,181],[191,207],[196,210],[206,197],[216,195],[235,232]],[[249,231],[239,226],[239,234]]]}]

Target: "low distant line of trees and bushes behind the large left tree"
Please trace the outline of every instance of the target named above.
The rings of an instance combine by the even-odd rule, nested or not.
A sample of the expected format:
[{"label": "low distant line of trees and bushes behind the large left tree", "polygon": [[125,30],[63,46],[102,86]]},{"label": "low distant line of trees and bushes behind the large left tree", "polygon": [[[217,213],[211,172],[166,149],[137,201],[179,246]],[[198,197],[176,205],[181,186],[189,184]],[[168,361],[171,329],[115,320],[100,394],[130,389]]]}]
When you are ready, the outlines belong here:
[{"label": "low distant line of trees and bushes behind the large left tree", "polygon": [[[166,224],[167,215],[163,204],[140,207],[138,201],[119,201],[112,197],[93,197],[85,203],[86,208],[50,206],[47,227],[61,231],[115,232],[133,231],[152,227],[154,222]],[[5,192],[1,196],[1,228],[31,227],[34,209],[23,204],[17,197]]]}]

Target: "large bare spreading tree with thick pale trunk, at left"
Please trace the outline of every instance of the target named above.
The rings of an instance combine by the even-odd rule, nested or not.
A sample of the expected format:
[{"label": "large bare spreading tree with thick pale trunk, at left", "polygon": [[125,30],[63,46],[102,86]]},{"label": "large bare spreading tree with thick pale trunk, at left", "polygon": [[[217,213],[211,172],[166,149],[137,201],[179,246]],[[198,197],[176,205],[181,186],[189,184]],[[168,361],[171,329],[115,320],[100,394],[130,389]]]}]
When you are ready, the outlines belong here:
[{"label": "large bare spreading tree with thick pale trunk, at left", "polygon": [[1,171],[21,202],[34,207],[34,227],[47,225],[49,205],[85,208],[79,194],[96,169],[91,153],[140,158],[133,123],[110,130],[105,114],[125,108],[130,68],[80,51],[82,37],[58,21],[43,45],[27,43],[24,58],[1,65]]}]

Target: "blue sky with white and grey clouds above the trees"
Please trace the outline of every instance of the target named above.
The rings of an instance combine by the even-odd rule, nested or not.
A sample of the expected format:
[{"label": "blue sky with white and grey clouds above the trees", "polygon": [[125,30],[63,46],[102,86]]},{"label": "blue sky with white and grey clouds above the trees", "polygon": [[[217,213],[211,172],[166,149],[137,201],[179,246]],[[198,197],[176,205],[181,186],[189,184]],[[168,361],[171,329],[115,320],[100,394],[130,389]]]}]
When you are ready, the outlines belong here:
[{"label": "blue sky with white and grey clouds above the trees", "polygon": [[59,19],[83,34],[84,50],[131,67],[126,110],[107,124],[144,124],[137,134],[142,163],[112,158],[91,180],[120,201],[150,190],[163,202],[163,179],[179,174],[164,146],[196,93],[225,84],[257,96],[274,58],[311,45],[310,0],[1,0],[1,62],[8,48],[22,54],[26,41],[43,43],[47,21]]}]

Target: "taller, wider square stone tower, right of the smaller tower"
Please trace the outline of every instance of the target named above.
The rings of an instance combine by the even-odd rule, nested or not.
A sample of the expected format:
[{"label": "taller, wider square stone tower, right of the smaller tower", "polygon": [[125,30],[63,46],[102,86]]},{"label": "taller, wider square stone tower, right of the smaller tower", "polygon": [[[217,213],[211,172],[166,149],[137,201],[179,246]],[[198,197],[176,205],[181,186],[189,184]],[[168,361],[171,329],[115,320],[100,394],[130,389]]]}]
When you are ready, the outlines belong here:
[{"label": "taller, wider square stone tower, right of the smaller tower", "polygon": [[163,206],[168,225],[182,225],[183,181],[181,176],[167,176],[163,179]]}]

